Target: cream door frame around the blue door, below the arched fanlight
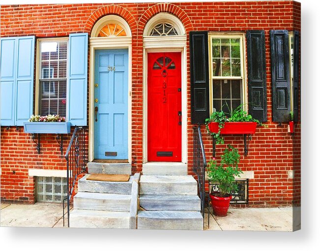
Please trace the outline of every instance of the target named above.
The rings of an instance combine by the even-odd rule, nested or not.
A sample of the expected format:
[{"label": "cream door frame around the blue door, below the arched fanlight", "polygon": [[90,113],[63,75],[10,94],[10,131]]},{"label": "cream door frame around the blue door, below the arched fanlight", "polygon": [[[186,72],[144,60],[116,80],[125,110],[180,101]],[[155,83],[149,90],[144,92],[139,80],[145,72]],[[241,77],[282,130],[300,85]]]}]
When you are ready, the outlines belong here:
[{"label": "cream door frame around the blue door, below the arched fanlight", "polygon": [[128,49],[128,161],[131,163],[132,118],[132,37],[91,37],[89,60],[89,145],[88,161],[94,158],[94,58],[95,50]]}]

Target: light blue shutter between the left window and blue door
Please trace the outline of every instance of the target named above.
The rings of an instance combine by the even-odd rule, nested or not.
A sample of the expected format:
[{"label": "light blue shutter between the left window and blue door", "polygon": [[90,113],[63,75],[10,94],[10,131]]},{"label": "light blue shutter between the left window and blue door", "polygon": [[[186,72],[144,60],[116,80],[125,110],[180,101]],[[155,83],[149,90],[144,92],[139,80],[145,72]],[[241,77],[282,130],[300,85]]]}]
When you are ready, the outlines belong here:
[{"label": "light blue shutter between the left window and blue door", "polygon": [[87,126],[87,52],[88,34],[70,34],[68,50],[68,121],[71,126]]}]

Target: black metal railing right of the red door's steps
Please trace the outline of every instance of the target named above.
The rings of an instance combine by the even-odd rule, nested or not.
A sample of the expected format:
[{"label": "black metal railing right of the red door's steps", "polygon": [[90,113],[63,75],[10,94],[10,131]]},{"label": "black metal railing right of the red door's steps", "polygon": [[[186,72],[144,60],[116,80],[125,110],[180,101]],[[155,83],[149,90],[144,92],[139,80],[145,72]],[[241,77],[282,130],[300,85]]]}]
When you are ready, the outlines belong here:
[{"label": "black metal railing right of the red door's steps", "polygon": [[201,199],[201,212],[204,218],[205,201],[205,168],[206,159],[204,154],[204,143],[202,141],[200,126],[193,127],[193,172],[198,177],[198,190]]}]

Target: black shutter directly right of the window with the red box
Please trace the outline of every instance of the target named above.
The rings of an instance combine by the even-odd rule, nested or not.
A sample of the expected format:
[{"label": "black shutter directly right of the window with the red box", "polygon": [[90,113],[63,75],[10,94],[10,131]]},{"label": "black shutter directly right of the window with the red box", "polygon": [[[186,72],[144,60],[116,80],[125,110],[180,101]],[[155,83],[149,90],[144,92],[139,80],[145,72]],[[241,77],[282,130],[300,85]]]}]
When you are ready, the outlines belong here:
[{"label": "black shutter directly right of the window with the red box", "polygon": [[267,121],[264,31],[247,31],[249,114]]}]

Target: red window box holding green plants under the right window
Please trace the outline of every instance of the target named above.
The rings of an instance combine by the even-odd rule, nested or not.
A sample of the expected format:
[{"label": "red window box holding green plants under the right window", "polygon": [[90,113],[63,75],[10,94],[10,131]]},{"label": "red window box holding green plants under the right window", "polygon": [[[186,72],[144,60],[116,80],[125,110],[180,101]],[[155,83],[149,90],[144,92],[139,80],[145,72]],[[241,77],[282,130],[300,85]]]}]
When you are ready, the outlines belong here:
[{"label": "red window box holding green plants under the right window", "polygon": [[[218,122],[210,122],[208,127],[213,133],[217,133],[219,131]],[[220,134],[254,134],[256,132],[256,128],[256,122],[226,122],[225,126],[221,128]]]}]

